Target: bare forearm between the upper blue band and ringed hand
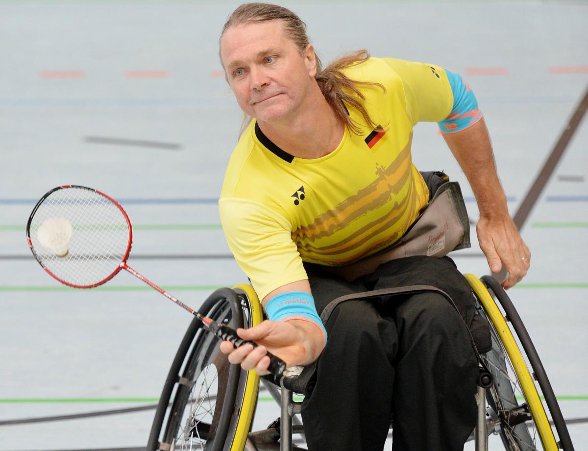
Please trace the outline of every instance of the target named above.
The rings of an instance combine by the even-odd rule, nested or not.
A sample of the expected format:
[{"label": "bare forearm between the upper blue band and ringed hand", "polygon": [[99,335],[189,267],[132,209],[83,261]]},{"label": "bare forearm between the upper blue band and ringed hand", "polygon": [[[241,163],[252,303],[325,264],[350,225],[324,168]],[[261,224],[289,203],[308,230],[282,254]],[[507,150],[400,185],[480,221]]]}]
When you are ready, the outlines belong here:
[{"label": "bare forearm between the upper blue band and ringed hand", "polygon": [[443,138],[472,186],[480,216],[508,216],[506,196],[500,186],[484,119],[463,131],[443,133]]}]

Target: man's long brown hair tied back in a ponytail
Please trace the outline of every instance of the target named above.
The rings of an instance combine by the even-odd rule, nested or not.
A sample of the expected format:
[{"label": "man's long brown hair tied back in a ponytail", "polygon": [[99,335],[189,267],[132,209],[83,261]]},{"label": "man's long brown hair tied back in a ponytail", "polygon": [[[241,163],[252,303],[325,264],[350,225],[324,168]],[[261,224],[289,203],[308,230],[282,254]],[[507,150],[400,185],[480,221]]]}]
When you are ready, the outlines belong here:
[{"label": "man's long brown hair tied back in a ponytail", "polygon": [[[308,35],[306,35],[306,24],[296,14],[289,9],[283,8],[283,6],[265,3],[246,3],[239,6],[239,8],[235,9],[226,20],[220,38],[222,39],[226,30],[231,26],[266,21],[282,21],[286,33],[296,44],[300,54],[303,55],[303,52],[309,45],[309,38]],[[365,96],[359,91],[358,85],[379,86],[384,92],[386,91],[386,88],[380,83],[350,79],[342,72],[342,69],[344,68],[355,66],[366,61],[366,59],[369,58],[368,51],[359,50],[348,55],[343,55],[329,64],[325,69],[322,68],[322,64],[316,53],[315,58],[315,80],[318,83],[323,96],[325,96],[325,100],[329,103],[329,106],[332,108],[333,112],[335,112],[335,116],[339,121],[343,122],[351,131],[358,135],[362,132],[360,126],[348,115],[348,111],[343,104],[343,102],[345,102],[352,108],[355,108],[372,129],[377,128],[378,124],[372,121],[368,111],[366,111],[363,106]],[[240,133],[245,130],[250,121],[250,116],[245,115]]]}]

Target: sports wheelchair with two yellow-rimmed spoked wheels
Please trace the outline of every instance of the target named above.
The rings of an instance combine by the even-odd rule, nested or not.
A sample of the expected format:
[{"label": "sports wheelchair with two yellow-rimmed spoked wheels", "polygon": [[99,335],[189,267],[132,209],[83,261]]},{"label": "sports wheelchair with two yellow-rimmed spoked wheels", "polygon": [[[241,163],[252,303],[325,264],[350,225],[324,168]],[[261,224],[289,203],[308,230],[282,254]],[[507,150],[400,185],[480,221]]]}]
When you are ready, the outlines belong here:
[{"label": "sports wheelchair with two yellow-rimmed spoked wheels", "polygon": [[[482,355],[491,377],[486,374],[486,380],[479,381],[478,421],[470,435],[476,451],[488,450],[488,437],[492,434],[500,436],[506,450],[573,451],[549,379],[505,290],[490,276],[481,280],[472,274],[465,277],[492,336],[492,349]],[[199,312],[232,328],[249,328],[263,320],[262,306],[249,285],[216,290]],[[276,381],[260,378],[255,370],[230,365],[219,350],[219,339],[205,332],[195,318],[173,359],[146,449],[303,450],[303,438],[294,445],[292,437],[303,437],[302,424],[295,417],[300,413],[301,403],[293,402],[292,395],[305,393],[304,387],[297,385],[298,373],[287,370],[278,387]],[[260,382],[278,402],[280,417],[267,429],[252,431]]]}]

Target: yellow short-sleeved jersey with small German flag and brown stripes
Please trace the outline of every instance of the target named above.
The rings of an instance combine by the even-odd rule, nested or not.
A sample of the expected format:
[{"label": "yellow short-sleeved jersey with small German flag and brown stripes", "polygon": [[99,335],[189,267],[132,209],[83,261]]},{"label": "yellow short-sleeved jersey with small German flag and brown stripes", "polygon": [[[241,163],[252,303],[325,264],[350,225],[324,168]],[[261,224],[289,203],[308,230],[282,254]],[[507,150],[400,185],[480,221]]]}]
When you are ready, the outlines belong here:
[{"label": "yellow short-sleeved jersey with small German flag and brown stripes", "polygon": [[445,70],[433,64],[369,58],[343,69],[365,96],[370,128],[348,128],[321,158],[289,155],[253,121],[232,153],[219,199],[229,248],[260,299],[308,279],[302,262],[338,266],[392,245],[419,216],[429,191],[412,163],[413,126],[453,108]]}]

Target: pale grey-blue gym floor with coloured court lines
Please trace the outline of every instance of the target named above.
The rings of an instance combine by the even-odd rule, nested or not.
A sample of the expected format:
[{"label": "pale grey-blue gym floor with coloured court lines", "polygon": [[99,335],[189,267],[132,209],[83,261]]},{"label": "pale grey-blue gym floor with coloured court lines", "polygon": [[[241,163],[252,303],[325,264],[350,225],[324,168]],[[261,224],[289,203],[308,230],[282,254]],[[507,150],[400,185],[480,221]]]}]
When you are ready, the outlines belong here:
[{"label": "pale grey-blue gym floor with coloured court lines", "polygon": [[[220,29],[237,5],[0,0],[0,451],[143,449],[191,321],[128,273],[92,290],[46,275],[25,238],[46,191],[71,183],[118,199],[135,228],[129,265],[193,308],[217,287],[246,282],[216,206],[241,120],[218,59]],[[587,450],[588,122],[569,121],[588,85],[588,4],[283,5],[306,21],[325,63],[366,48],[440,64],[472,86],[533,253],[509,294],[574,446]],[[417,125],[415,164],[459,181],[475,223],[472,192],[436,129]],[[474,232],[472,248],[452,256],[482,276]],[[81,415],[92,412],[105,415]],[[265,393],[255,427],[278,415]]]}]

